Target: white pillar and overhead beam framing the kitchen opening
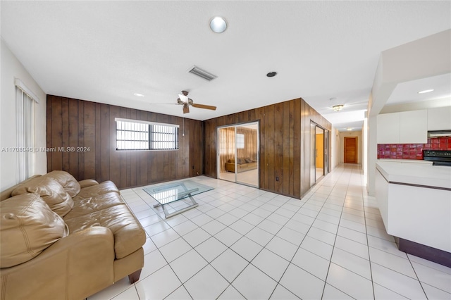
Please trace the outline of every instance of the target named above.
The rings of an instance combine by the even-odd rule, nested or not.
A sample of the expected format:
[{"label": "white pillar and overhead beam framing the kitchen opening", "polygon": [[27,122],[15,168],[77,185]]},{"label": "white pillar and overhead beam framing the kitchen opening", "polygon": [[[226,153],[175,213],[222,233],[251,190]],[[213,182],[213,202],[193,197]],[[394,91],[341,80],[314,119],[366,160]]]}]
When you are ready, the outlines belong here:
[{"label": "white pillar and overhead beam framing the kitchen opening", "polygon": [[398,83],[451,73],[450,53],[451,29],[381,53],[368,104],[367,182],[370,196],[374,196],[376,190],[377,115]]}]

